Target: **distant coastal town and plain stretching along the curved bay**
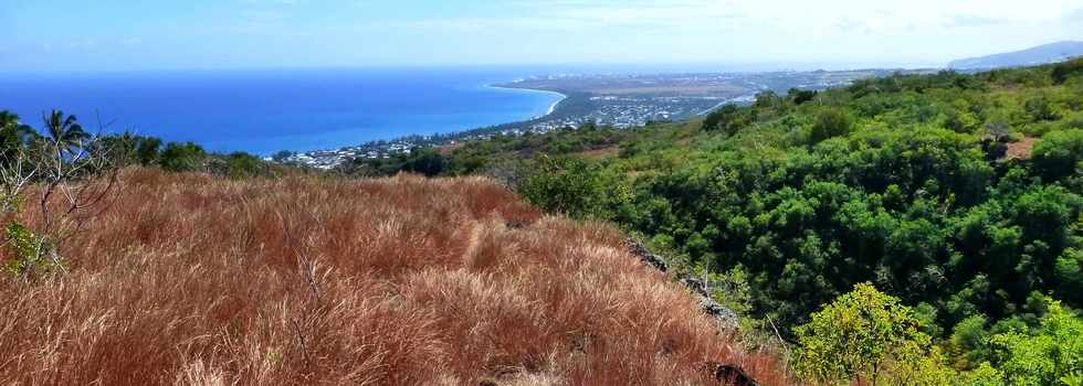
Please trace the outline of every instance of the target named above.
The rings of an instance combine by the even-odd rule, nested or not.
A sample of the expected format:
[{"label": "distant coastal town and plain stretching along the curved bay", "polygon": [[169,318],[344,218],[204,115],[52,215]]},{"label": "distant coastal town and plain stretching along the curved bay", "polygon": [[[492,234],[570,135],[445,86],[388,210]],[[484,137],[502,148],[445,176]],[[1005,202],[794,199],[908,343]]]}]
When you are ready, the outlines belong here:
[{"label": "distant coastal town and plain stretching along the curved bay", "polygon": [[410,136],[371,141],[337,150],[282,151],[270,159],[286,164],[333,169],[351,159],[390,158],[428,146],[448,146],[487,139],[496,135],[544,133],[580,128],[588,122],[616,128],[642,127],[650,122],[681,121],[705,115],[725,104],[749,104],[764,92],[786,94],[789,89],[827,89],[856,79],[887,76],[896,72],[930,73],[937,69],[814,71],[703,74],[554,74],[506,84],[505,88],[536,89],[566,96],[548,115],[448,135]]}]

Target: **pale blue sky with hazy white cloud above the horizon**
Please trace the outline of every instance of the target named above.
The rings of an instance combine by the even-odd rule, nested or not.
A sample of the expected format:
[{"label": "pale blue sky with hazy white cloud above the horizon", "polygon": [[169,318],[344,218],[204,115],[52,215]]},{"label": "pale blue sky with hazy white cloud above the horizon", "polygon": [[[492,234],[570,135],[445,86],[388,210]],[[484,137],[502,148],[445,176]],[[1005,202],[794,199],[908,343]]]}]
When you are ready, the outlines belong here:
[{"label": "pale blue sky with hazy white cloud above the horizon", "polygon": [[939,66],[1063,40],[1079,0],[0,0],[0,72]]}]

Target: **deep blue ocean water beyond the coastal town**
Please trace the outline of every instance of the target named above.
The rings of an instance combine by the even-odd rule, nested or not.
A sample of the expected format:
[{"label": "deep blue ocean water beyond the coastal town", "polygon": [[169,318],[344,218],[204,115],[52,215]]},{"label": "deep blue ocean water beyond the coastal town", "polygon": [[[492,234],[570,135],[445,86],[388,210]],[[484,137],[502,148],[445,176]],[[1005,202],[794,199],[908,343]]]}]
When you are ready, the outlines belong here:
[{"label": "deep blue ocean water beyond the coastal town", "polygon": [[[172,71],[0,75],[0,110],[41,127],[49,109],[91,131],[133,131],[214,151],[333,149],[545,115],[561,96],[497,89],[517,69]],[[99,119],[99,118],[101,119]]]}]

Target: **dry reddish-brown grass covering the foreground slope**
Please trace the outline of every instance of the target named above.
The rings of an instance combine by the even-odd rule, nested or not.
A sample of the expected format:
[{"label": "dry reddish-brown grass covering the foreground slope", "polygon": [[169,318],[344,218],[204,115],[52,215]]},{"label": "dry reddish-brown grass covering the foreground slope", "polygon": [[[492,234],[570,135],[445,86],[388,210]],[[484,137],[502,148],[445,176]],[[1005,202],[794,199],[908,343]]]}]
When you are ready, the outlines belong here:
[{"label": "dry reddish-brown grass covering the foreground slope", "polygon": [[0,279],[0,384],[786,383],[618,232],[483,179],[122,179],[70,274]]}]

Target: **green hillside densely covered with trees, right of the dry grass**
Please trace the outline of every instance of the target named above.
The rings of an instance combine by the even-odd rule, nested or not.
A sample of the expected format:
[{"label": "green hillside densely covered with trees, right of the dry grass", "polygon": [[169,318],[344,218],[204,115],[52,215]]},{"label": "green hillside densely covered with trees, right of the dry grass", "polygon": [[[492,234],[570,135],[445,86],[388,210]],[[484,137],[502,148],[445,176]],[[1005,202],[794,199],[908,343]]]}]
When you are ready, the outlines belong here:
[{"label": "green hillside densely covered with trees, right of the dry grass", "polygon": [[[487,173],[546,210],[613,222],[806,357],[812,314],[871,283],[954,371],[1059,385],[1083,374],[1077,339],[1024,349],[1005,336],[1055,345],[1040,336],[1081,325],[1081,107],[1080,60],[896,75],[766,93],[686,124],[495,138],[350,171]],[[1062,317],[1069,330],[1050,332]],[[1051,367],[1013,373],[1024,360]]]}]

